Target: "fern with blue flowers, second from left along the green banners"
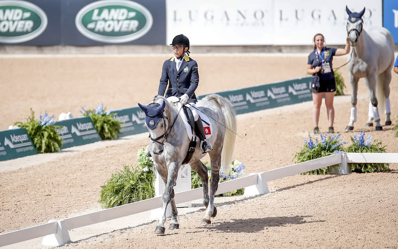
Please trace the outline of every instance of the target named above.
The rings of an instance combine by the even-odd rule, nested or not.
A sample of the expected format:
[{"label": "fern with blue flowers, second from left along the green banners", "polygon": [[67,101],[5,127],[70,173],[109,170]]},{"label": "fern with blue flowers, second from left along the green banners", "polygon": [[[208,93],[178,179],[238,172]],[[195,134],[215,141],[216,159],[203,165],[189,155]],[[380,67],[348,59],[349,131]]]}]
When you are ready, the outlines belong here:
[{"label": "fern with blue flowers, second from left along the green banners", "polygon": [[83,116],[91,117],[93,123],[100,134],[102,140],[104,139],[117,139],[120,135],[120,125],[123,123],[122,121],[118,121],[114,118],[116,113],[110,113],[106,111],[106,107],[103,107],[103,104],[100,103],[97,105],[97,108],[94,110],[89,110],[87,108],[83,108],[80,111]]}]

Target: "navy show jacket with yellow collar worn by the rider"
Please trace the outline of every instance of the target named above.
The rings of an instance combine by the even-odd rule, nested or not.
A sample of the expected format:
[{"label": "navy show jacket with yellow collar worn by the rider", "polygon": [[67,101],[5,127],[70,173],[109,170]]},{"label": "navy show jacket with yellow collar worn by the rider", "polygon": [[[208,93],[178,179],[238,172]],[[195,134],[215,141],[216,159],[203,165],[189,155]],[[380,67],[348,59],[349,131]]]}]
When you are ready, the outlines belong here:
[{"label": "navy show jacket with yellow collar worn by the rider", "polygon": [[190,97],[188,102],[196,103],[195,90],[199,83],[198,64],[187,55],[182,60],[180,70],[177,72],[175,57],[163,63],[158,94],[163,96],[166,87],[166,98],[170,96],[181,97],[184,93]]}]

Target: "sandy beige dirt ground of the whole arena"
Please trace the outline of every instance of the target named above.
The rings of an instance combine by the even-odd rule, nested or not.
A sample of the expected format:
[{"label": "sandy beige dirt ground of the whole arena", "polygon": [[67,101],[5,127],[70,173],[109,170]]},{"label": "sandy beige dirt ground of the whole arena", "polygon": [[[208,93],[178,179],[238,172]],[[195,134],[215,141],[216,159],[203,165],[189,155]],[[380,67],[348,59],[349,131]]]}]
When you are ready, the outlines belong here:
[{"label": "sandy beige dirt ground of the whole arena", "polygon": [[[196,55],[197,95],[304,77],[307,54]],[[310,51],[308,51],[309,53]],[[48,111],[72,112],[81,106],[108,109],[149,103],[157,93],[161,67],[169,55],[151,56],[0,56],[0,130]],[[346,57],[335,57],[335,67]],[[335,97],[335,131],[344,132],[350,118],[351,87],[347,68],[340,69],[345,96]],[[358,121],[398,152],[398,75],[393,73],[393,126],[384,131],[365,127],[369,98],[360,81]],[[238,115],[234,160],[246,174],[294,164],[303,138],[312,133],[312,102]],[[384,123],[384,111],[380,110]],[[327,130],[321,107],[321,132]],[[146,134],[101,141],[86,149],[35,155],[0,162],[0,233],[100,210],[100,186],[123,164],[135,165],[137,151],[148,144]],[[179,216],[180,229],[156,236],[156,222],[126,227],[72,242],[65,248],[398,248],[398,165],[391,172],[348,175],[295,175],[268,182],[271,193],[219,203],[217,216],[201,226],[203,209]],[[166,223],[168,227],[168,223]],[[42,248],[31,245],[31,248]]]}]

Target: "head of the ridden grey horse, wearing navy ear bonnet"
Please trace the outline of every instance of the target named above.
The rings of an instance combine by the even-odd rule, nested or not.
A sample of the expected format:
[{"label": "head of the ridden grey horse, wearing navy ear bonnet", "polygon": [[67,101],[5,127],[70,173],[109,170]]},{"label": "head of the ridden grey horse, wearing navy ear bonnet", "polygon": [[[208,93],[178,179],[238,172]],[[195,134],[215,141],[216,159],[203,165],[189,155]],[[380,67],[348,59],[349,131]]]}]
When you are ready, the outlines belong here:
[{"label": "head of the ridden grey horse, wearing navy ear bonnet", "polygon": [[138,103],[138,106],[145,113],[145,125],[149,131],[149,138],[153,141],[152,152],[159,155],[163,152],[163,141],[167,137],[165,120],[167,117],[164,115],[166,101],[161,98],[155,98],[148,105]]}]

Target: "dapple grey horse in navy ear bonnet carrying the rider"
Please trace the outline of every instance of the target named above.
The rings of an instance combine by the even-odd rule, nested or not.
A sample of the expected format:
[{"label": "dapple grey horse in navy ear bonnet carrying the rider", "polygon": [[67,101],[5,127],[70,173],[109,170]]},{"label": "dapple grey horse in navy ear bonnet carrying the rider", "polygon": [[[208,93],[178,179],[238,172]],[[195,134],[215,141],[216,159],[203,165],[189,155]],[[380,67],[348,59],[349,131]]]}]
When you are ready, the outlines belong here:
[{"label": "dapple grey horse in navy ear bonnet carrying the rider", "polygon": [[[177,221],[177,208],[174,200],[173,187],[176,184],[178,171],[186,158],[192,137],[188,136],[184,122],[185,114],[182,104],[170,103],[163,96],[156,95],[149,105],[138,104],[145,112],[145,124],[149,131],[149,151],[154,161],[155,169],[165,182],[165,191],[162,201],[162,215],[155,233],[164,235],[166,208],[171,205],[170,230],[179,228]],[[207,167],[200,159],[205,154],[201,153],[200,141],[196,145],[194,154],[189,164],[198,172],[203,185],[203,204],[206,212],[202,225],[211,223],[210,217],[215,217],[217,210],[214,207],[214,196],[218,187],[220,166],[230,165],[236,136],[236,112],[228,99],[209,94],[196,104],[197,108],[210,118],[211,136],[208,138],[213,150],[208,152],[211,164],[210,193],[208,193]]]}]

